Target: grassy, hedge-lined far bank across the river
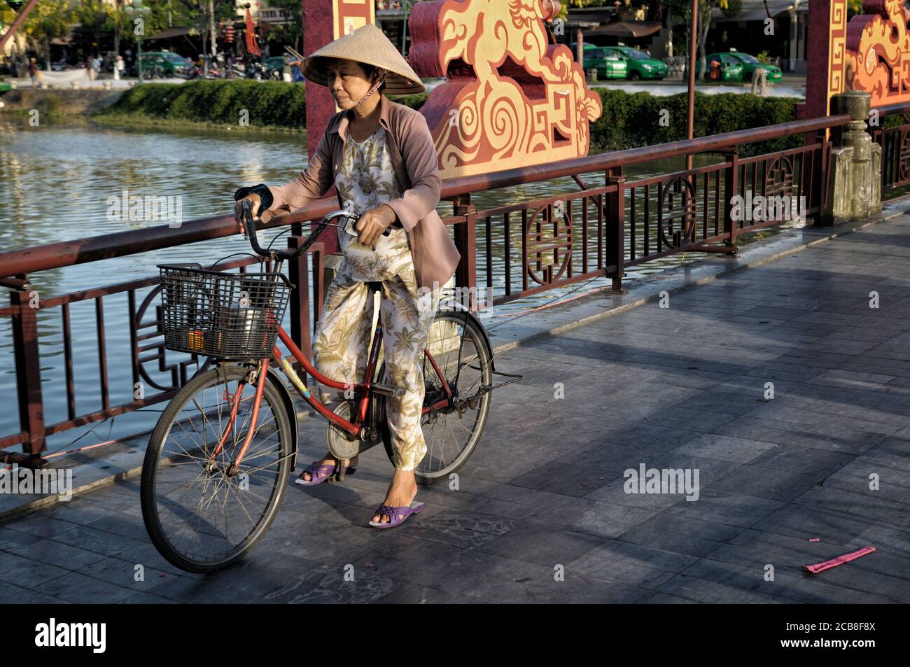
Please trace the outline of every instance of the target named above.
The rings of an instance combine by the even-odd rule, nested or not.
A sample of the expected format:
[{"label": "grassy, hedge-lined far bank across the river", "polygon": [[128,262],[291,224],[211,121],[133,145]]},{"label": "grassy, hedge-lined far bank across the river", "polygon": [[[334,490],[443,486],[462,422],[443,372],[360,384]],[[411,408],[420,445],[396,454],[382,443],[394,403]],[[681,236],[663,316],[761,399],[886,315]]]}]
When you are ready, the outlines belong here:
[{"label": "grassy, hedge-lined far bank across the river", "polygon": [[[602,114],[591,124],[591,153],[685,138],[686,94],[654,96],[643,91],[595,90],[602,100]],[[796,118],[795,105],[802,101],[742,93],[695,95],[695,136],[792,121]],[[420,109],[427,94],[391,98]],[[306,133],[306,86],[275,81],[148,83],[127,90],[15,89],[0,100],[9,100],[4,110],[18,116],[36,108],[61,123]],[[763,153],[795,147],[800,142],[800,137],[788,136],[746,150]]]}]

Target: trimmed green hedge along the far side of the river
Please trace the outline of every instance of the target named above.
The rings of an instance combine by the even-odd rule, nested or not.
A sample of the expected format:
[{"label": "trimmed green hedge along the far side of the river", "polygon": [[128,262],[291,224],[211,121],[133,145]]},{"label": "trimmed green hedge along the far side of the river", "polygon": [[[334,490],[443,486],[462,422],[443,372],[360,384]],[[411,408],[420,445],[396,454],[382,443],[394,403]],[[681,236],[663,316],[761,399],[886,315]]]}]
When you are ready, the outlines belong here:
[{"label": "trimmed green hedge along the far side of the river", "polygon": [[[303,128],[307,120],[306,86],[281,81],[187,81],[185,84],[135,86],[98,115],[142,115],[172,120],[237,125],[240,109],[251,126]],[[652,96],[596,88],[603,113],[591,126],[591,150],[652,146],[686,136],[687,96]],[[396,102],[420,109],[427,94],[393,96]],[[792,97],[695,93],[695,136],[709,136],[750,127],[786,123],[796,118]],[[664,113],[666,112],[666,113]],[[666,124],[662,124],[665,119]],[[797,147],[802,136],[786,136],[743,147],[754,155]]]}]

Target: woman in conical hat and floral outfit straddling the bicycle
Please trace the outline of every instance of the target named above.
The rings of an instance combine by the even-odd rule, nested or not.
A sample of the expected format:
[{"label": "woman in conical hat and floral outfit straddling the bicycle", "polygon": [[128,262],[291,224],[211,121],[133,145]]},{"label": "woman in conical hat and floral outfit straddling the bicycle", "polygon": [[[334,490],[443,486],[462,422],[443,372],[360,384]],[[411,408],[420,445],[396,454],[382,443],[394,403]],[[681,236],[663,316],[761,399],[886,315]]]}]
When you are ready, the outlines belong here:
[{"label": "woman in conical hat and floral outfit straddling the bicycle", "polygon": [[[359,214],[358,238],[339,228],[343,258],[316,326],[313,363],[331,379],[364,381],[373,315],[366,282],[380,282],[385,381],[405,393],[386,402],[396,470],[370,524],[395,525],[410,514],[417,494],[414,469],[427,451],[420,426],[424,348],[440,290],[460,260],[436,213],[441,183],[430,128],[419,112],[383,94],[420,93],[426,87],[371,24],[323,46],[299,69],[309,81],[328,86],[341,111],[329,118],[312,161],[298,177],[281,186],[238,189],[238,217],[243,199],[258,205],[254,211],[268,222],[305,207],[333,184],[339,206]],[[390,234],[383,236],[387,228]],[[335,396],[344,398],[338,390]],[[343,461],[348,473],[357,459]],[[335,461],[327,452],[297,482],[326,480]]]}]

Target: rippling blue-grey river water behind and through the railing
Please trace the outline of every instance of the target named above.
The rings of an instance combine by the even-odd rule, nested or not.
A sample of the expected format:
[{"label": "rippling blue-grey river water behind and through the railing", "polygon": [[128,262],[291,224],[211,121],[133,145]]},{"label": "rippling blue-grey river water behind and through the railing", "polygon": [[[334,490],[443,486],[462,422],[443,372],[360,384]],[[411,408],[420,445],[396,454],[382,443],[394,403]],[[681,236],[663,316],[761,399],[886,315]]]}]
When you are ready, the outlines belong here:
[{"label": "rippling blue-grey river water behind and through the railing", "polygon": [[[280,184],[305,167],[306,137],[272,133],[226,131],[159,130],[98,126],[31,127],[18,121],[0,121],[0,249],[28,248],[44,243],[94,237],[161,225],[161,222],[117,219],[110,215],[109,197],[181,197],[183,220],[227,214],[234,191],[256,183]],[[708,158],[697,156],[696,166]],[[629,180],[666,174],[684,167],[683,158],[627,167]],[[585,177],[591,185],[602,184],[602,173]],[[478,208],[501,206],[538,197],[577,191],[571,178],[501,188],[472,197]],[[440,204],[440,214],[449,215],[451,206]],[[112,219],[113,218],[113,219]],[[514,219],[514,218],[513,218]],[[513,222],[514,225],[514,222]],[[483,227],[477,228],[479,241]],[[513,252],[519,249],[513,227]],[[493,234],[494,256],[501,255],[502,232]],[[283,244],[282,244],[283,245]],[[44,271],[32,277],[40,298],[50,298],[82,288],[97,288],[134,278],[157,274],[157,264],[169,262],[211,263],[231,253],[248,252],[242,236],[167,248],[126,258],[64,269]],[[690,256],[691,257],[691,256]],[[697,257],[691,257],[695,259]],[[691,260],[689,257],[686,259]],[[478,258],[478,283],[483,284],[484,265]],[[679,257],[664,258],[630,270],[634,279],[670,265]],[[501,267],[501,256],[496,267]],[[495,269],[494,269],[495,270]],[[580,270],[576,269],[576,270]],[[501,277],[496,281],[501,284]],[[520,285],[513,281],[513,285]],[[583,288],[573,286],[513,302],[498,313],[524,310],[551,302],[575,289],[586,291],[609,284],[597,279]],[[2,290],[5,292],[5,290]],[[3,302],[6,303],[4,295]],[[133,393],[129,364],[129,329],[126,298],[106,298],[104,303],[106,346],[110,375],[111,405],[126,402]],[[45,422],[66,419],[66,383],[60,308],[40,311],[41,365]],[[533,317],[531,315],[531,317]],[[93,301],[75,304],[71,312],[76,377],[76,414],[100,408],[98,345]],[[499,320],[501,321],[501,320]],[[170,357],[168,357],[170,361]],[[192,372],[192,370],[190,371]],[[167,379],[160,373],[157,379]],[[19,430],[15,411],[15,365],[9,318],[0,318],[0,398],[8,409],[0,411],[0,437]],[[162,406],[155,406],[160,409]],[[96,440],[125,435],[154,425],[157,413],[125,415],[103,425],[79,446]],[[66,449],[86,428],[69,430],[52,438],[49,449]]]}]

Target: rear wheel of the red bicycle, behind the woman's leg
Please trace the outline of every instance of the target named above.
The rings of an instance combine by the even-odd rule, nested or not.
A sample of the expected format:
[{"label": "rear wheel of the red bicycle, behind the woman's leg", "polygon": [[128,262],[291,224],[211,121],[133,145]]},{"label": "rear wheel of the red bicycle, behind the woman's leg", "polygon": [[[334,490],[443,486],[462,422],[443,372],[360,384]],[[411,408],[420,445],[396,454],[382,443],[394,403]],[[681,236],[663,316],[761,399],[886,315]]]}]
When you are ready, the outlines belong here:
[{"label": "rear wheel of the red bicycle, behind the woman's leg", "polygon": [[[490,412],[490,391],[481,389],[492,384],[492,350],[476,319],[456,310],[440,310],[430,326],[427,347],[439,372],[423,357],[425,394],[423,405],[446,398],[442,378],[454,394],[450,405],[424,414],[420,419],[427,453],[414,469],[419,484],[448,479],[465,464],[477,447]],[[440,377],[441,374],[441,377]],[[379,369],[385,379],[385,363]],[[465,402],[467,399],[470,401]],[[391,432],[386,419],[379,428],[389,460],[394,462]]]}]

